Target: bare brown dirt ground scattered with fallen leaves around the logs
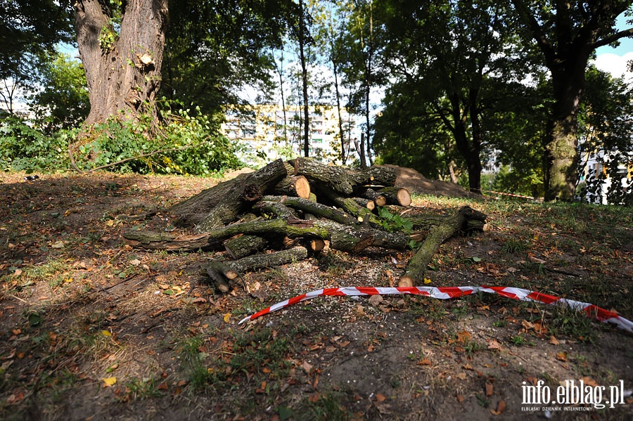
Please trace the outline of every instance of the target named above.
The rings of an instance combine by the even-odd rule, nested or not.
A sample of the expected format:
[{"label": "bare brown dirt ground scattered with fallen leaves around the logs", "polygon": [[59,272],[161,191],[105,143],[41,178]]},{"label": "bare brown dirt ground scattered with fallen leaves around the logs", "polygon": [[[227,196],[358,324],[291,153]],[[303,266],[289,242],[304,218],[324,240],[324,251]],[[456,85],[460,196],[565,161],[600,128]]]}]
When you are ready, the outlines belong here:
[{"label": "bare brown dirt ground scattered with fallen leaves around the logs", "polygon": [[[633,419],[633,337],[611,325],[490,294],[321,297],[238,325],[322,287],[397,285],[411,252],[329,251],[246,273],[250,294],[237,283],[222,295],[198,273],[222,252],[145,252],[120,236],[185,233],[167,212],[134,215],[217,180],[24,175],[0,174],[1,419]],[[633,318],[631,216],[408,183],[430,194],[407,212],[489,216],[488,231],[442,245],[429,286],[523,287]],[[624,396],[613,408],[523,403],[526,386],[555,398],[565,380],[606,387],[602,402],[610,387]]]}]

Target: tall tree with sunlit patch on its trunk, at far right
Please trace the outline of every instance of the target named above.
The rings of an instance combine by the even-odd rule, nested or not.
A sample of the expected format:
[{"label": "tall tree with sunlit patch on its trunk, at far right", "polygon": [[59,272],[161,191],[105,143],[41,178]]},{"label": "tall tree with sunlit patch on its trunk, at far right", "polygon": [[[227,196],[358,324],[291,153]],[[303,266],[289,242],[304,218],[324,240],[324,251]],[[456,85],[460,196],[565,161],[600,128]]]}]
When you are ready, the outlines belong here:
[{"label": "tall tree with sunlit patch on its trunk, at far right", "polygon": [[544,155],[545,200],[573,200],[577,180],[577,113],[584,72],[596,48],[632,37],[618,31],[615,18],[631,10],[630,1],[512,0],[528,27],[527,38],[551,73],[552,98]]}]

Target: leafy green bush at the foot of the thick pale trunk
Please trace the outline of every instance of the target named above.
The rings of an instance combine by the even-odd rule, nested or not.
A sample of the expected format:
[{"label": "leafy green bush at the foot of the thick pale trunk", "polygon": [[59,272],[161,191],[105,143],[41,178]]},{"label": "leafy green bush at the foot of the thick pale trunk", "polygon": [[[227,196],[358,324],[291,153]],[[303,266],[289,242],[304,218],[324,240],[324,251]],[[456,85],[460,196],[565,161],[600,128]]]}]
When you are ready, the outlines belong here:
[{"label": "leafy green bush at the foot of the thick pale trunk", "polygon": [[210,175],[242,164],[235,146],[217,133],[217,122],[191,110],[166,110],[165,122],[155,126],[154,117],[137,119],[118,115],[96,124],[91,141],[75,155],[83,170],[107,167],[140,174]]}]

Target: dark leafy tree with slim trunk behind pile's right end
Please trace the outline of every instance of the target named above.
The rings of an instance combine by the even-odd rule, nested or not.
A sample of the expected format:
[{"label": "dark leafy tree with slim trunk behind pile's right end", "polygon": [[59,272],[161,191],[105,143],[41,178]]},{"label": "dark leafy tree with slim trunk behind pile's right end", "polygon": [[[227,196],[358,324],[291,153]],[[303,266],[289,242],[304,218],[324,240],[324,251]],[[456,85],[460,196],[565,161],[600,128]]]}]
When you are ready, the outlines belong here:
[{"label": "dark leafy tree with slim trunk behind pile's right end", "polygon": [[480,193],[481,155],[490,143],[485,119],[495,101],[492,86],[496,79],[511,79],[515,68],[506,11],[486,0],[475,6],[471,1],[391,0],[385,9],[384,60],[397,91],[423,102],[416,108],[423,112],[416,119],[426,127],[423,132],[436,132],[439,123],[451,134],[466,164],[469,188]]}]

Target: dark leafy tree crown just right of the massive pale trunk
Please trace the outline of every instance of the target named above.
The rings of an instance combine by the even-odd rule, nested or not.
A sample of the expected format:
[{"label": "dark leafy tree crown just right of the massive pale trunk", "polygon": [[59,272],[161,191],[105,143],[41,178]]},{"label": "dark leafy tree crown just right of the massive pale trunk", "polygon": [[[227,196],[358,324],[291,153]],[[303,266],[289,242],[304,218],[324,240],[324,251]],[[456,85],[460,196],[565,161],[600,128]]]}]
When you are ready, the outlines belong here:
[{"label": "dark leafy tree crown just right of the massive pale trunk", "polygon": [[271,50],[282,47],[290,0],[172,1],[165,39],[161,94],[205,114],[243,102],[252,86],[264,96],[274,89]]}]

